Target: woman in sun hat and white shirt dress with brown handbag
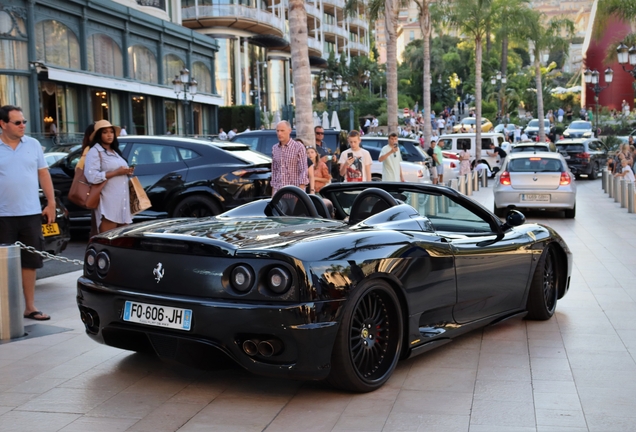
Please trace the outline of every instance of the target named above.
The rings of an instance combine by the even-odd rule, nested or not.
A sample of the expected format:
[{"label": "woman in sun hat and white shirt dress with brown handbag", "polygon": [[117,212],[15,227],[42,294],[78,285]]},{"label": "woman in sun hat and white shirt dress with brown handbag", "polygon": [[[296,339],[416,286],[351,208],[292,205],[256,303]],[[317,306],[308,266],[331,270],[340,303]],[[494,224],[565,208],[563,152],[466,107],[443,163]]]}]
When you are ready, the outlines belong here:
[{"label": "woman in sun hat and white shirt dress with brown handbag", "polygon": [[95,123],[90,136],[90,150],[86,154],[84,175],[92,184],[106,182],[101,190],[99,205],[94,210],[100,233],[132,223],[128,176],[129,168],[119,150],[117,135],[120,128],[108,120]]}]

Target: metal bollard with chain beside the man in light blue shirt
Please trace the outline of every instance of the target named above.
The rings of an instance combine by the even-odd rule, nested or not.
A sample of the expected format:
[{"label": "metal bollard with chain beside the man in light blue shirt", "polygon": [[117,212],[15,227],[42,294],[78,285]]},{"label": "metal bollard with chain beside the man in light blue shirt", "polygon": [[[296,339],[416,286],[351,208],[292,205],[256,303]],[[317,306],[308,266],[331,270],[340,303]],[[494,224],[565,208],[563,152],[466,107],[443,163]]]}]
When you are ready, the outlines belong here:
[{"label": "metal bollard with chain beside the man in light blue shirt", "polygon": [[24,336],[20,248],[0,245],[0,340]]}]

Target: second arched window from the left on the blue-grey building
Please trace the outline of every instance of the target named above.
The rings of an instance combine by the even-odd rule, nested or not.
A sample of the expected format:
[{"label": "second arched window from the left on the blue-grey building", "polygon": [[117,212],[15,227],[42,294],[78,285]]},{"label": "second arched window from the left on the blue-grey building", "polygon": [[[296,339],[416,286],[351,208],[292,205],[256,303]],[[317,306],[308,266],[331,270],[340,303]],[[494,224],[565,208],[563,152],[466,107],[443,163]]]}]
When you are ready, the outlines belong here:
[{"label": "second arched window from the left on the blue-grey building", "polygon": [[77,36],[60,22],[46,20],[35,25],[35,51],[37,59],[46,64],[80,69]]}]

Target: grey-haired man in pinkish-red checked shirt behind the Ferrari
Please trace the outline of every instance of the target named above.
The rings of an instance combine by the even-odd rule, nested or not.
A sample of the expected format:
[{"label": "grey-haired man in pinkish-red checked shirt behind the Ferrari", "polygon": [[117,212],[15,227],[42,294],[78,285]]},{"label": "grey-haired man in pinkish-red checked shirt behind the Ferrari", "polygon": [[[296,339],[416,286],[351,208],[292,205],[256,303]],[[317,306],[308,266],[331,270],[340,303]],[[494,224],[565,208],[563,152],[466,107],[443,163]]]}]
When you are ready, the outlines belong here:
[{"label": "grey-haired man in pinkish-red checked shirt behind the Ferrari", "polygon": [[285,120],[276,125],[276,135],[279,142],[272,148],[272,195],[289,185],[305,190],[309,183],[305,146],[291,139],[291,125]]}]

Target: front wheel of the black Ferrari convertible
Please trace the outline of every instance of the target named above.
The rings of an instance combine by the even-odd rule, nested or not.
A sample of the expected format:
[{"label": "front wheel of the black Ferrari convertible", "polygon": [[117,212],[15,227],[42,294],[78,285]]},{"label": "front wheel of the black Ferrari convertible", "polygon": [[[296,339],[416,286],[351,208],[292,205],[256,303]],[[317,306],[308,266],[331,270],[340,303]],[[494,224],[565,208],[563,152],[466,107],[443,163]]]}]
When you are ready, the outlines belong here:
[{"label": "front wheel of the black Ferrari convertible", "polygon": [[539,321],[552,318],[559,296],[558,281],[556,253],[553,247],[548,246],[541,254],[534,271],[528,293],[526,318]]}]

